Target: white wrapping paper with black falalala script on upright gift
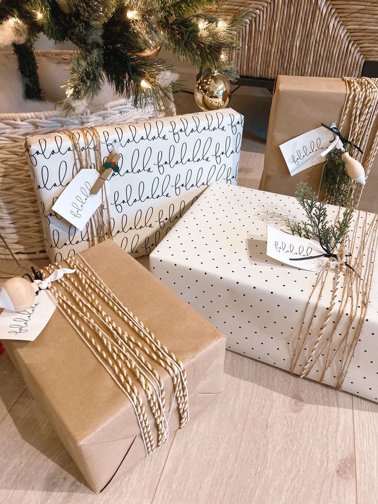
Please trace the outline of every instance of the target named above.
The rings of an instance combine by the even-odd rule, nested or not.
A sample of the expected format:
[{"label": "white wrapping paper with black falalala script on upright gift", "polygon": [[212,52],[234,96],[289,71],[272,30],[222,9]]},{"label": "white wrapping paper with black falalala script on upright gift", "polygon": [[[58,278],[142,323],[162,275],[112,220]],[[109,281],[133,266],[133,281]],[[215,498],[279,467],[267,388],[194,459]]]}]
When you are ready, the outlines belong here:
[{"label": "white wrapping paper with black falalala script on upright gift", "polygon": [[[134,256],[149,254],[207,185],[236,184],[243,121],[229,108],[98,127],[102,159],[112,150],[121,155],[120,172],[106,182],[116,243]],[[74,134],[85,151],[83,132]],[[46,250],[60,261],[89,247],[88,226],[79,231],[51,211],[76,174],[71,140],[51,133],[29,137],[26,147]],[[94,168],[93,141],[89,153]]]}]

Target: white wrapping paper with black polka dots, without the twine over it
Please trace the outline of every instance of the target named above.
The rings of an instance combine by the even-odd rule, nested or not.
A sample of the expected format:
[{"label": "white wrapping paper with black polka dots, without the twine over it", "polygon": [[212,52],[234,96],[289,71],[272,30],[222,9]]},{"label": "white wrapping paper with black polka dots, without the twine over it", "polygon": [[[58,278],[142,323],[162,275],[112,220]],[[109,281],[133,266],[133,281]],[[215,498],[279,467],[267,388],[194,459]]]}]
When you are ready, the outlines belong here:
[{"label": "white wrapping paper with black polka dots, without the twine over it", "polygon": [[[337,207],[329,206],[328,210],[329,217],[334,218]],[[362,214],[368,222],[376,217]],[[285,231],[287,218],[304,218],[294,197],[212,184],[150,255],[150,270],[226,334],[228,349],[290,370],[318,273],[280,264],[267,256],[267,225]],[[378,271],[376,265],[374,268],[366,321],[341,388],[378,401]],[[328,313],[332,288],[333,274],[326,278],[314,330],[292,369],[295,374],[300,375],[304,369]],[[312,313],[315,303],[316,296],[311,297],[308,313]],[[343,313],[350,309],[347,305]],[[328,327],[332,327],[336,313]],[[353,322],[352,330],[357,322]],[[342,355],[344,347],[338,348],[347,323],[342,319],[340,324],[332,340],[335,345],[330,346],[329,356],[335,358],[324,379],[320,380],[320,376],[327,352],[322,352],[308,375],[338,388],[342,365],[339,359],[343,364],[347,362],[346,355]],[[348,348],[352,335],[350,331]],[[325,332],[322,346],[327,338]],[[332,353],[334,349],[337,351]]]}]

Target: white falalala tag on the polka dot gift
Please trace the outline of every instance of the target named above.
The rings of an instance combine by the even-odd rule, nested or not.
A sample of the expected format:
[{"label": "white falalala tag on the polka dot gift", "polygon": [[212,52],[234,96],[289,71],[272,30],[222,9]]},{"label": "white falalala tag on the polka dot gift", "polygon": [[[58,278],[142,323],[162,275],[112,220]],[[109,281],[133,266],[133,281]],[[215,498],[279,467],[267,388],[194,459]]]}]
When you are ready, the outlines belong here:
[{"label": "white falalala tag on the polka dot gift", "polygon": [[[272,226],[267,226],[267,230],[267,255],[269,255],[269,257],[273,257],[273,259],[276,259],[280,263],[289,264],[290,266],[303,270],[322,270],[325,261],[328,259],[325,257],[306,259],[306,257],[325,253],[318,242],[284,233]],[[290,260],[300,258],[303,258],[303,260]]]}]

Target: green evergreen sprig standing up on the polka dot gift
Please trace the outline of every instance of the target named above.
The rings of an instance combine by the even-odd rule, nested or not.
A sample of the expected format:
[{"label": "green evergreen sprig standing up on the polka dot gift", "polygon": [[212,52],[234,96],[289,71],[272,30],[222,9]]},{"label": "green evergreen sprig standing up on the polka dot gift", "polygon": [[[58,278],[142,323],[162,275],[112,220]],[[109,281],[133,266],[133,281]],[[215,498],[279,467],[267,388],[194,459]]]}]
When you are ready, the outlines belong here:
[{"label": "green evergreen sprig standing up on the polka dot gift", "polygon": [[342,218],[332,225],[328,218],[326,203],[317,200],[317,194],[306,182],[300,182],[296,186],[295,196],[305,211],[307,221],[287,220],[290,232],[304,238],[315,239],[326,254],[334,254],[348,233],[353,208],[348,204],[343,210]]}]

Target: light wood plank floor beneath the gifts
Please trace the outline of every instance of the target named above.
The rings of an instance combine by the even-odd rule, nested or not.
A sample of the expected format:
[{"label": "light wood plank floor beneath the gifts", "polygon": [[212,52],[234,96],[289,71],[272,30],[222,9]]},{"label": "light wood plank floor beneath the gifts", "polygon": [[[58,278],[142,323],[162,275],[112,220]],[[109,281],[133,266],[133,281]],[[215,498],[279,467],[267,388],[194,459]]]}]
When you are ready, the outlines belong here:
[{"label": "light wood plank floor beneath the gifts", "polygon": [[[245,146],[239,182],[256,186],[259,140]],[[378,502],[377,404],[231,352],[225,374],[217,406],[96,495],[4,353],[0,504]]]}]

